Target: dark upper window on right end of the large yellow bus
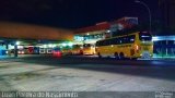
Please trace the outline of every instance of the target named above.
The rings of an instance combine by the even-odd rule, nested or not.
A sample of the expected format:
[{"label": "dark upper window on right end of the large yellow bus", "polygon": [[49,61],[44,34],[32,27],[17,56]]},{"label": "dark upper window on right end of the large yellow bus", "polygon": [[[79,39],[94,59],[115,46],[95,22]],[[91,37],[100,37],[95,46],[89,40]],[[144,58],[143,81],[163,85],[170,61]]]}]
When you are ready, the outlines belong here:
[{"label": "dark upper window on right end of the large yellow bus", "polygon": [[139,33],[139,39],[141,41],[151,41],[152,40],[152,36],[150,33]]}]

